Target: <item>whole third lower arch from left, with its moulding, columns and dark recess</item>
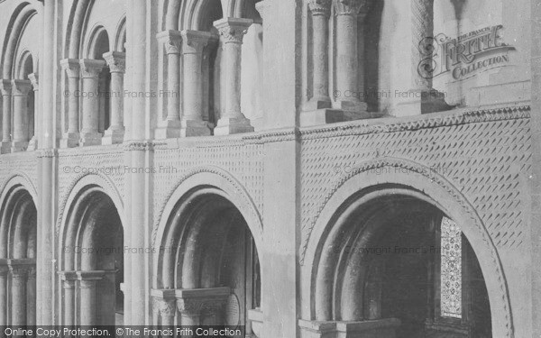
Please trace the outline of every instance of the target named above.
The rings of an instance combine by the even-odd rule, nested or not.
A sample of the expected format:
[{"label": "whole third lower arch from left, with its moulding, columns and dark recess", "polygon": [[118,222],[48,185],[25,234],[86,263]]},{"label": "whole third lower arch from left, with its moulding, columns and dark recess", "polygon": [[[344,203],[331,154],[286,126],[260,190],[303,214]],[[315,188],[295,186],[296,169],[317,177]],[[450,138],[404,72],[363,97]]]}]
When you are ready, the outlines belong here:
[{"label": "whole third lower arch from left, with its moulding, columns and dark recess", "polygon": [[[262,301],[261,219],[250,198],[215,169],[188,174],[167,201],[153,243],[153,288],[173,292],[179,309],[214,295],[209,312],[185,317],[181,310],[183,324],[249,324]],[[236,310],[225,312],[225,305]],[[175,320],[160,315],[161,324]]]}]

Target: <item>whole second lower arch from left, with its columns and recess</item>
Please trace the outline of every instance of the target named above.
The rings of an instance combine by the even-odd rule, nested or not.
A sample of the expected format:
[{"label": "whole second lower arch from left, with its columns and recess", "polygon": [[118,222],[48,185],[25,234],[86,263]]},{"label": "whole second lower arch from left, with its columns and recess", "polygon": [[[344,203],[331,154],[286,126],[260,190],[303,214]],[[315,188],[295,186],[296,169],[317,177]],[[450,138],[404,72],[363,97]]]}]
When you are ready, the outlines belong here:
[{"label": "whole second lower arch from left, with its columns and recess", "polygon": [[120,196],[97,175],[77,180],[59,233],[62,324],[122,324],[124,222]]}]

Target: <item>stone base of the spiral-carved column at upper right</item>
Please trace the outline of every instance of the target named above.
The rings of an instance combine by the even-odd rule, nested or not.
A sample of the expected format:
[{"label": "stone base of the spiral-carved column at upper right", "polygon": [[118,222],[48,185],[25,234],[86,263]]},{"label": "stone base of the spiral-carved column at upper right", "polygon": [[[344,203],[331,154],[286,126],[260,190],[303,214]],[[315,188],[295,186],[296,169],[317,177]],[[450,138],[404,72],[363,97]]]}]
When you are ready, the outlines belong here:
[{"label": "stone base of the spiral-carved column at upper right", "polygon": [[412,116],[444,112],[453,108],[452,105],[447,105],[445,102],[445,94],[437,90],[412,89],[407,93],[408,97],[400,100],[393,115]]}]

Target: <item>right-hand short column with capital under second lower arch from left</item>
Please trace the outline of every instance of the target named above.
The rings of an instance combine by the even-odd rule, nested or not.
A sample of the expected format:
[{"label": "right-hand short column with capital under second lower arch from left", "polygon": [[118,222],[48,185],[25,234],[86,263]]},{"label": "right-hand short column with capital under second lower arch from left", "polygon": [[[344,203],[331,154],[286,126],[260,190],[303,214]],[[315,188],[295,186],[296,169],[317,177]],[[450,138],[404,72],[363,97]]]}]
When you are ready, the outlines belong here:
[{"label": "right-hand short column with capital under second lower arch from left", "polygon": [[80,324],[96,325],[96,284],[105,271],[77,271],[80,288]]}]

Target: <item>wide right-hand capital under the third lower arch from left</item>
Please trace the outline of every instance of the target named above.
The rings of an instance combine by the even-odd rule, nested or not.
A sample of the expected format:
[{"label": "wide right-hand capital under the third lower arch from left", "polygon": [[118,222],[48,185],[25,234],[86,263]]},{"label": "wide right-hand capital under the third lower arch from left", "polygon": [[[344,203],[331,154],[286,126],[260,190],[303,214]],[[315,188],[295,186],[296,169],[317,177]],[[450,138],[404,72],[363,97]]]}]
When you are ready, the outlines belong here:
[{"label": "wide right-hand capital under the third lower arch from left", "polygon": [[225,306],[231,288],[177,289],[177,307],[183,315],[215,314]]}]

